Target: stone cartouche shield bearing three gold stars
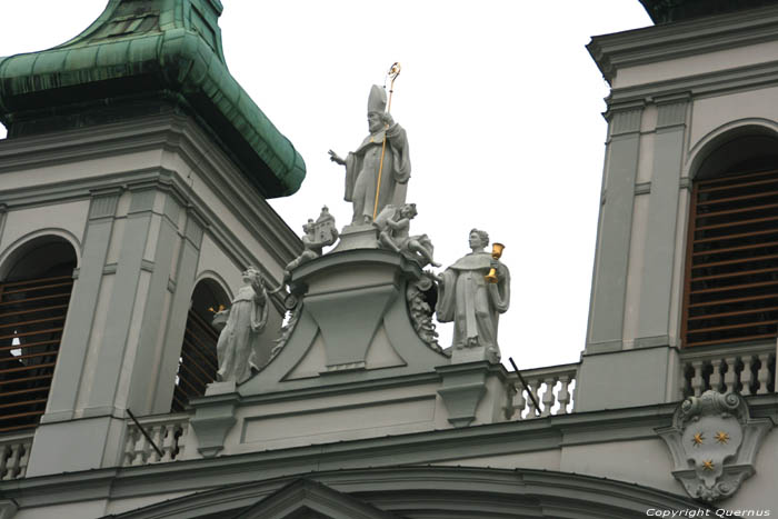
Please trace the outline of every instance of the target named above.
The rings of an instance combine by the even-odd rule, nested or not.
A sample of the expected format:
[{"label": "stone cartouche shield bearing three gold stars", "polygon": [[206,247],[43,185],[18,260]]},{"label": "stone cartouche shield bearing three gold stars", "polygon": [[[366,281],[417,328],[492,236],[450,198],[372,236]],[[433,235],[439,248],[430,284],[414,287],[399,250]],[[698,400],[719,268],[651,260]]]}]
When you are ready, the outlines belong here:
[{"label": "stone cartouche shield bearing three gold stars", "polygon": [[672,455],[672,476],[689,496],[710,502],[732,496],[755,473],[755,458],[771,428],[769,419],[751,419],[739,395],[708,390],[684,400],[672,426],[656,431]]}]

